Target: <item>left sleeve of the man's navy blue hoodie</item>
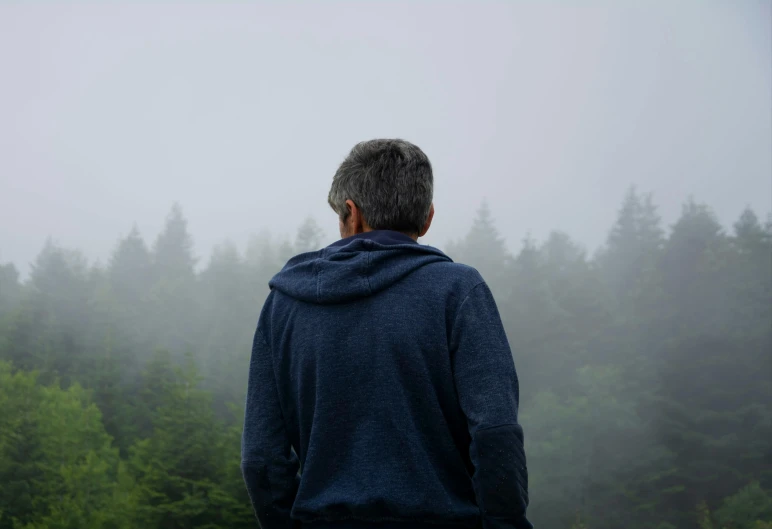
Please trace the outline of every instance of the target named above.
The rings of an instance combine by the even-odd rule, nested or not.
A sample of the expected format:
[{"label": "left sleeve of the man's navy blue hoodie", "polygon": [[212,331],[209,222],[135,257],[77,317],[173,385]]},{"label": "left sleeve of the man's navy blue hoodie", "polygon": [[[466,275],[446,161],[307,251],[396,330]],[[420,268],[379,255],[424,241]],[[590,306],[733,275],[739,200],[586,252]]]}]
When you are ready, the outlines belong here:
[{"label": "left sleeve of the man's navy blue hoodie", "polygon": [[262,529],[297,528],[290,511],[298,469],[284,426],[270,348],[258,328],[249,363],[241,471]]}]

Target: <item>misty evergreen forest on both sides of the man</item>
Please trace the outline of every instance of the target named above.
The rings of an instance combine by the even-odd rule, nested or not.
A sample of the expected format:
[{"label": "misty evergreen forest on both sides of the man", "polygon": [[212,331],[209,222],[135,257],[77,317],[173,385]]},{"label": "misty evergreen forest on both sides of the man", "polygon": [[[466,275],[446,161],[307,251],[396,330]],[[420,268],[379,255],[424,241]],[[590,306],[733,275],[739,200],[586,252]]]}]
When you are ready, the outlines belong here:
[{"label": "misty evergreen forest on both sides of the man", "polygon": [[[510,252],[483,203],[442,248],[490,284],[521,385],[529,518],[544,529],[772,529],[772,216],[664,225],[621,197],[592,254]],[[268,280],[323,232],[199,262],[181,207],[106,263],[48,241],[0,264],[0,529],[256,527],[239,469]],[[512,241],[510,240],[510,243]]]}]

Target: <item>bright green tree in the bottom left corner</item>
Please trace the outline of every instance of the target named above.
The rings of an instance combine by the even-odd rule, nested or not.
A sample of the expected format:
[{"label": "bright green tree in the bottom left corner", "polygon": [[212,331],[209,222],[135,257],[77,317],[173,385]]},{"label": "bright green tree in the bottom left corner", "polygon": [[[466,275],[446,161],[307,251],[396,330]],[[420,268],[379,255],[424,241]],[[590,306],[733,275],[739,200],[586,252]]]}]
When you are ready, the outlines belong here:
[{"label": "bright green tree in the bottom left corner", "polygon": [[133,482],[88,394],[0,363],[0,528],[133,527]]}]

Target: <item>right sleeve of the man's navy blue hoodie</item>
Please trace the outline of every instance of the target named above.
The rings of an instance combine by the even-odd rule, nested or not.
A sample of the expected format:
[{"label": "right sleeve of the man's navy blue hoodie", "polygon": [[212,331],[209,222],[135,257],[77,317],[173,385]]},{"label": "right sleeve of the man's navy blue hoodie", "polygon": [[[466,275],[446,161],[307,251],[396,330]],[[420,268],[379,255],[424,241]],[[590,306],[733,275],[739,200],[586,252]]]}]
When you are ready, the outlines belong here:
[{"label": "right sleeve of the man's navy blue hoodie", "polygon": [[453,373],[469,425],[470,458],[484,529],[531,529],[528,472],[517,422],[515,364],[488,286],[461,303],[451,332]]}]

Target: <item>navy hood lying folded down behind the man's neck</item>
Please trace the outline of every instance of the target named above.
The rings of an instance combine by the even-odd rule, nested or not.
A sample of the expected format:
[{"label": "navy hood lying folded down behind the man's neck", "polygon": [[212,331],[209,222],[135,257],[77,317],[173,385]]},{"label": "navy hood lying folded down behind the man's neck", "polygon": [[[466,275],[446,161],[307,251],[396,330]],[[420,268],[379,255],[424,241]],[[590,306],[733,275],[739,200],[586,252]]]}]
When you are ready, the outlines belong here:
[{"label": "navy hood lying folded down behind the man's neck", "polygon": [[308,303],[346,303],[372,296],[438,262],[452,261],[407,235],[377,230],[293,257],[268,285]]}]

